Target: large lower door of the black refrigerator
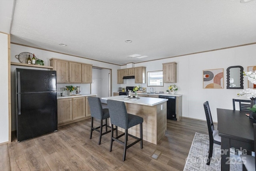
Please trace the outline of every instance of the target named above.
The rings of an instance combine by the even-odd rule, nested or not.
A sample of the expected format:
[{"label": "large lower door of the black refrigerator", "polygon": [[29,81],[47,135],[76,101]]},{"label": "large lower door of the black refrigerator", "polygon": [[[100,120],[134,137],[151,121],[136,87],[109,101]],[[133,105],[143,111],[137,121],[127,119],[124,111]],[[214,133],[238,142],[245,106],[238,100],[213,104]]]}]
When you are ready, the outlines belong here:
[{"label": "large lower door of the black refrigerator", "polygon": [[56,91],[17,94],[16,117],[18,141],[56,131]]}]

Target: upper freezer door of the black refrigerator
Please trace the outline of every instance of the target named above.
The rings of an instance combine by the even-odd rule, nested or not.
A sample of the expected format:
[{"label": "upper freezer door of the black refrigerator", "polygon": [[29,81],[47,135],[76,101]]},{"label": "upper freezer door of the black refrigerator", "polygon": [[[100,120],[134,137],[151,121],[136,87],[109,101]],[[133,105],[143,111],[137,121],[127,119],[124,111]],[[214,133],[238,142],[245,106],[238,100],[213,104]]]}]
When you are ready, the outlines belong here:
[{"label": "upper freezer door of the black refrigerator", "polygon": [[56,91],[56,71],[16,68],[16,92]]}]

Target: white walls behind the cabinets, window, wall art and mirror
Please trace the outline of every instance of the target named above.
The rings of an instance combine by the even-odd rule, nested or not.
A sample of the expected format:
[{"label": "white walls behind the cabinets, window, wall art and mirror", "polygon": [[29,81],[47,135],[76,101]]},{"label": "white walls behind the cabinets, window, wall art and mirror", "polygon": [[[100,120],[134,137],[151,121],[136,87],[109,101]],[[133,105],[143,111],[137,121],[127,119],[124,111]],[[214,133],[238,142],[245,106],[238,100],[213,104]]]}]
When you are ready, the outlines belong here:
[{"label": "white walls behind the cabinets, window, wall art and mirror", "polygon": [[[104,62],[97,62],[83,58],[72,57],[68,55],[28,48],[11,44],[11,61],[18,62],[14,57],[21,52],[35,53],[37,58],[45,61],[45,65],[50,66],[50,58],[61,58],[64,60],[73,60],[76,62],[84,62],[93,64],[93,66],[112,69],[112,91],[118,91],[118,87],[135,86],[134,79],[124,80],[125,84],[116,84],[117,69],[126,68],[126,66],[117,66]],[[164,60],[156,60],[151,62],[143,62],[135,64],[135,67],[146,66],[146,72],[162,70],[162,63],[177,62],[177,83],[178,91],[182,94],[182,115],[195,119],[205,119],[203,103],[208,100],[212,112],[212,118],[217,121],[216,108],[232,109],[232,98],[246,99],[245,97],[237,97],[239,89],[226,89],[226,69],[229,66],[242,66],[247,70],[247,66],[255,66],[256,44],[230,48],[224,50],[216,50],[200,54],[188,56],[180,56],[176,58],[168,58]],[[203,70],[224,68],[224,89],[203,89]],[[147,84],[142,84],[146,87]],[[166,91],[169,84],[164,87],[154,87],[154,91]],[[244,88],[248,87],[248,82],[244,79]],[[150,87],[147,88],[149,91]]]}]

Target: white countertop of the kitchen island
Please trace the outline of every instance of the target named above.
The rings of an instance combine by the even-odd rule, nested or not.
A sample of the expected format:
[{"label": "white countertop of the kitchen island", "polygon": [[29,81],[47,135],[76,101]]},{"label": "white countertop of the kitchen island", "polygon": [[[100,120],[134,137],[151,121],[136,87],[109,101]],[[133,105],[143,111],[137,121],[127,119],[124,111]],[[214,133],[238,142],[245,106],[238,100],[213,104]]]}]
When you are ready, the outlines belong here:
[{"label": "white countertop of the kitchen island", "polygon": [[117,101],[124,101],[125,103],[133,103],[139,105],[148,105],[154,106],[164,101],[168,101],[168,99],[160,99],[160,98],[153,98],[153,97],[140,97],[140,99],[131,98],[129,99],[127,95],[118,95],[118,96],[111,96],[111,97],[102,97],[104,100],[117,100]]}]

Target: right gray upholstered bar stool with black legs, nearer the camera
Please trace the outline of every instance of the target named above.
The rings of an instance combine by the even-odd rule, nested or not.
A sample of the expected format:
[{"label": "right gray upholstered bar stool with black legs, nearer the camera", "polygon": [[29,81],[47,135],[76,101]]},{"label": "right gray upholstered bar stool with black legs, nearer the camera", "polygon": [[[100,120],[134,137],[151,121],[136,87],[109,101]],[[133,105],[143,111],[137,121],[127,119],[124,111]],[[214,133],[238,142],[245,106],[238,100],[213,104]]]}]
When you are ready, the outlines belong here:
[{"label": "right gray upholstered bar stool with black legs, nearer the camera", "polygon": [[[116,101],[116,100],[107,100],[108,103],[108,109],[109,109],[109,115],[110,115],[110,121],[111,121],[111,142],[110,142],[110,149],[109,151],[112,151],[112,145],[113,141],[118,141],[119,143],[124,145],[124,155],[123,155],[123,161],[125,161],[126,157],[126,149],[131,147],[132,145],[140,142],[140,148],[143,148],[143,140],[142,140],[142,122],[143,118],[137,115],[132,115],[130,113],[127,113],[126,106],[123,101]],[[130,127],[133,127],[135,125],[140,124],[140,138],[135,137],[133,135],[130,135],[128,133],[128,129]],[[125,129],[125,132],[117,137],[113,136],[113,125],[116,125],[118,127],[121,127]],[[119,138],[124,137],[124,142],[120,141]],[[127,145],[128,135],[130,137],[133,137],[136,139],[133,143],[130,145]]]}]

